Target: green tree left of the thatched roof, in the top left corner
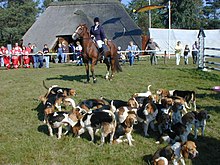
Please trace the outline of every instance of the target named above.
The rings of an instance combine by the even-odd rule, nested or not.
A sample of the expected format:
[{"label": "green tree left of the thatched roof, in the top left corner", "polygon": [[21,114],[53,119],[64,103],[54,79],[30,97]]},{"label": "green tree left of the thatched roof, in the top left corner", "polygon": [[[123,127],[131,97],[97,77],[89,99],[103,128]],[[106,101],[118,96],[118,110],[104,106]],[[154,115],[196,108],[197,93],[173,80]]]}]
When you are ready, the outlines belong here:
[{"label": "green tree left of the thatched roof, in the top left corner", "polygon": [[5,0],[0,12],[0,44],[19,42],[36,20],[39,1]]}]

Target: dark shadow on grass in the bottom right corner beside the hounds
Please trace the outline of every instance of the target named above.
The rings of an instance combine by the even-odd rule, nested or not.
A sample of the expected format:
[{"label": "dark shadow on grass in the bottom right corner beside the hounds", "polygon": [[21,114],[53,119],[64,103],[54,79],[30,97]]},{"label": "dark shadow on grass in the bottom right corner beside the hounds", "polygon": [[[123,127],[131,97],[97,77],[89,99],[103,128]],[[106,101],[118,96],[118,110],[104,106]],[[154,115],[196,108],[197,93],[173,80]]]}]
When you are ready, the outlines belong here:
[{"label": "dark shadow on grass in the bottom right corner beside the hounds", "polygon": [[[220,155],[220,140],[217,140],[212,137],[206,137],[206,136],[205,137],[198,136],[198,139],[194,140],[192,134],[190,134],[188,140],[194,141],[196,143],[199,155],[195,159],[185,160],[186,164],[192,164],[192,165],[219,164],[219,162],[220,162],[220,157],[219,157],[219,155]],[[162,146],[161,146],[161,148],[162,148]],[[146,165],[152,164],[151,162],[152,162],[152,157],[153,157],[154,153],[144,155],[142,157],[142,160],[146,163]]]}]

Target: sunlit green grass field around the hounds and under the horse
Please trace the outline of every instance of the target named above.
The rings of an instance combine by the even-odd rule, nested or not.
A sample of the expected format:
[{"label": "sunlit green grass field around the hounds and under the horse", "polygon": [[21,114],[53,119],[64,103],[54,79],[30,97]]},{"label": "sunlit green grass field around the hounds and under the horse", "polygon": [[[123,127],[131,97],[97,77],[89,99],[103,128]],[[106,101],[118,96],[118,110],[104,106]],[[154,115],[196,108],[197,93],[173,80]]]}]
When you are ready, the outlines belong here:
[{"label": "sunlit green grass field around the hounds and under the horse", "polygon": [[[60,140],[56,136],[49,137],[42,122],[42,104],[38,101],[46,92],[43,80],[48,86],[75,88],[77,103],[100,96],[128,100],[135,92],[145,92],[149,84],[153,93],[159,88],[195,90],[198,109],[207,110],[211,119],[207,122],[205,137],[199,136],[196,140],[199,157],[187,164],[219,164],[220,93],[209,89],[220,85],[220,72],[203,72],[195,65],[186,66],[181,62],[176,66],[174,59],[170,59],[164,64],[161,58],[156,66],[149,65],[148,60],[135,62],[132,67],[126,64],[123,72],[115,74],[111,82],[104,79],[105,66],[98,64],[96,84],[84,84],[84,67],[73,64],[51,64],[50,69],[0,70],[0,164],[147,164],[150,155],[165,145],[154,143],[155,133],[150,132],[149,138],[143,137],[141,129],[133,133],[133,147],[127,143],[107,143],[99,147],[89,143],[87,135],[81,139],[71,134]],[[99,143],[99,136],[97,138]]]}]

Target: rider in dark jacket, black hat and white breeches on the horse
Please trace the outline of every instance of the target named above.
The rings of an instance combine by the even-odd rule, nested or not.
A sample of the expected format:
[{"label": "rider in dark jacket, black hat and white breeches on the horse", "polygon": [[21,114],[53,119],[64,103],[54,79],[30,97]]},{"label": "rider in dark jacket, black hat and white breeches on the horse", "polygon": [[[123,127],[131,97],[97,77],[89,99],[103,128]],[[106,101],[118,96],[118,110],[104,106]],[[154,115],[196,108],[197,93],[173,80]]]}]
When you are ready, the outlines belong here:
[{"label": "rider in dark jacket, black hat and white breeches on the horse", "polygon": [[107,38],[104,32],[103,27],[99,24],[99,18],[94,18],[94,25],[90,29],[91,37],[96,41],[99,49],[99,53],[101,54],[102,59],[104,58],[104,49],[103,44],[107,45]]}]

